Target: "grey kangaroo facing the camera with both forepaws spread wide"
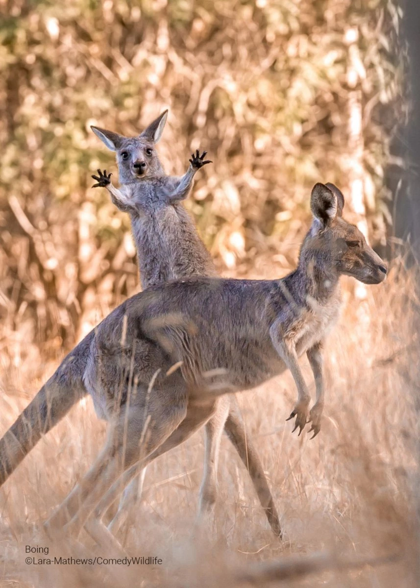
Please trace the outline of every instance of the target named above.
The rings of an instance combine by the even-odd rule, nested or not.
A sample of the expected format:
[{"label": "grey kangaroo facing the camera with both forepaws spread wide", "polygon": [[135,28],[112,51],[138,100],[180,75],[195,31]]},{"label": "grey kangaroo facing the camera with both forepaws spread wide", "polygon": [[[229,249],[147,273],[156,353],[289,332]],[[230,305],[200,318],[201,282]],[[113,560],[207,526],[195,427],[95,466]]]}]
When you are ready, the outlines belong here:
[{"label": "grey kangaroo facing the camera with both forepaws spread wide", "polygon": [[[120,189],[111,183],[111,173],[98,169],[93,175],[97,183],[94,188],[104,186],[115,206],[128,212],[135,240],[142,289],[168,280],[191,276],[216,276],[216,269],[208,250],[199,238],[194,221],[182,205],[182,200],[191,191],[192,181],[198,169],[211,163],[205,160],[206,152],[191,154],[188,171],[181,178],[165,175],[155,145],[162,136],[168,111],[163,112],[135,138],[92,126],[92,131],[116,152]],[[199,516],[209,511],[216,500],[216,475],[218,452],[223,429],[231,440],[245,467],[251,475],[269,524],[276,535],[280,534],[280,523],[264,469],[245,436],[236,406],[231,406],[228,396],[215,403],[215,414],[205,425],[205,466],[200,489]],[[144,480],[144,471],[139,481],[125,490],[118,512],[108,526],[118,529],[127,514],[127,503],[135,502]]]}]

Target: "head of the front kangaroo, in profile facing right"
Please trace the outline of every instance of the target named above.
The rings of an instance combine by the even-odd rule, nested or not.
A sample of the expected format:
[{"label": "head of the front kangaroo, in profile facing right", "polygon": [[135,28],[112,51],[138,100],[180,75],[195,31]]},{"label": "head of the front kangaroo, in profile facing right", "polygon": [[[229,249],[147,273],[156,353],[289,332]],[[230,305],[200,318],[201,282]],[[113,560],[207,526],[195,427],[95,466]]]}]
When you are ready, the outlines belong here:
[{"label": "head of the front kangaroo, in profile facing right", "polygon": [[301,248],[301,264],[315,263],[328,273],[352,276],[365,284],[383,282],[384,261],[361,231],[342,218],[343,208],[344,196],[334,184],[315,184],[311,193],[314,222]]}]

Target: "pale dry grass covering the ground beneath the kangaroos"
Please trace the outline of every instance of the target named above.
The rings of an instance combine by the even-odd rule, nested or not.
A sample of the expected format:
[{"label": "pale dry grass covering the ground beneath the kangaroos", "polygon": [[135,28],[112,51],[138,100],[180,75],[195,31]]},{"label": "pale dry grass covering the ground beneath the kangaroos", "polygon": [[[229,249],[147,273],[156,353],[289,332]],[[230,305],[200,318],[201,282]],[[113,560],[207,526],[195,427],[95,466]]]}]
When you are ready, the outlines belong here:
[{"label": "pale dry grass covering the ground beneath the kangaroos", "polygon": [[[261,275],[276,273],[269,264],[259,268]],[[285,422],[295,397],[290,375],[240,397],[281,513],[284,542],[272,536],[226,439],[215,529],[203,542],[191,541],[204,449],[199,434],[149,467],[142,505],[118,534],[129,554],[161,557],[162,566],[26,565],[26,544],[49,545],[52,556],[112,556],[111,548],[95,547],[88,536],[81,537],[84,547],[65,537],[58,545],[41,532],[42,521],[84,475],[104,439],[104,425],[88,401],[36,446],[1,490],[0,586],[268,585],[272,576],[255,568],[268,560],[284,563],[284,586],[415,586],[420,573],[416,289],[411,274],[394,263],[386,283],[368,288],[365,299],[356,297],[351,280],[344,292],[341,321],[325,353],[328,400],[321,434],[313,441],[291,434]],[[311,382],[309,366],[304,360],[302,365]],[[42,376],[35,368],[28,360],[2,383],[2,431],[54,366]],[[316,556],[311,562],[321,571],[299,579],[289,558],[319,552],[332,561],[325,564],[324,555]],[[396,559],[345,564],[384,556]]]}]

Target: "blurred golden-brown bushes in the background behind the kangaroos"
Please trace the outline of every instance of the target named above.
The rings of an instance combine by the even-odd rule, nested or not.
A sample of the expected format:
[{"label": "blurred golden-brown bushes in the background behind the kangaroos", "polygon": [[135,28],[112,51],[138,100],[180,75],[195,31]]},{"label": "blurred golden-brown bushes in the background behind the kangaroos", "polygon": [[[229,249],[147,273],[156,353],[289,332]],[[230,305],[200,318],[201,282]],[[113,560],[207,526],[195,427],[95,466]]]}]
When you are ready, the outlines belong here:
[{"label": "blurred golden-brown bushes in the background behind the kangaroos", "polygon": [[169,108],[166,171],[209,152],[186,206],[228,275],[294,265],[317,181],[384,253],[405,117],[396,1],[0,6],[4,368],[61,354],[138,288],[129,219],[91,189],[96,168],[116,172],[91,124],[135,135]]}]

